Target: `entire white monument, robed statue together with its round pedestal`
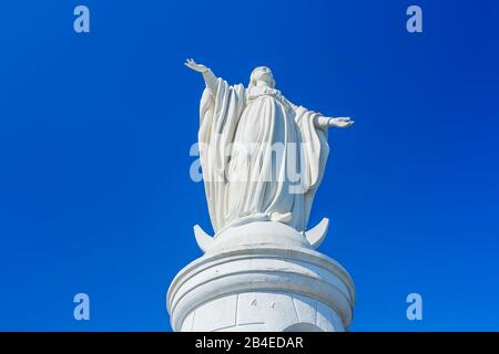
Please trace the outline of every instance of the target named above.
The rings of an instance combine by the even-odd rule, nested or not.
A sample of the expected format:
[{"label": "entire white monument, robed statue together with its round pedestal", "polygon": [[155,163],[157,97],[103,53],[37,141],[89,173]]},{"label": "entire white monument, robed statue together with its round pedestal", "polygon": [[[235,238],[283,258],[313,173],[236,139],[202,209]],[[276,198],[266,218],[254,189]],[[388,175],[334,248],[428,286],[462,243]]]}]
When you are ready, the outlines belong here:
[{"label": "entire white monument, robed statue together with its round pedestal", "polygon": [[346,331],[355,288],[348,272],[316,251],[328,219],[306,230],[328,155],[328,127],[348,127],[295,106],[268,67],[245,88],[203,73],[200,159],[215,235],[194,235],[203,256],[167,292],[174,331]]}]

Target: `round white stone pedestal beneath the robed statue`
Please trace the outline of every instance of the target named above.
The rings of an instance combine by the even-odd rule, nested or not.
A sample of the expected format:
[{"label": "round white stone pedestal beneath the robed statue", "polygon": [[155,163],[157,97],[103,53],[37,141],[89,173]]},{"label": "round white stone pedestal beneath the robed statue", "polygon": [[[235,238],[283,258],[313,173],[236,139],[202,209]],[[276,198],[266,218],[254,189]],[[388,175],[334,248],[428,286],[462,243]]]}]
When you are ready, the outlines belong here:
[{"label": "round white stone pedestal beneath the robed statue", "polygon": [[272,221],[218,233],[167,293],[174,331],[345,331],[354,284],[296,230]]}]

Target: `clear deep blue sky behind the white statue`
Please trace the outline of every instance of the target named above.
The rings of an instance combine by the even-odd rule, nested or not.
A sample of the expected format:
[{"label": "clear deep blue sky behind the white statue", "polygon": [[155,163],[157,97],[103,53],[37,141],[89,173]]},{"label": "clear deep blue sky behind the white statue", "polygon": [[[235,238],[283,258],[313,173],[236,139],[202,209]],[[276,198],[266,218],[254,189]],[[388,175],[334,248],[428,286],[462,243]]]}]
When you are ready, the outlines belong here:
[{"label": "clear deep blue sky behind the white statue", "polygon": [[[405,30],[419,4],[424,33]],[[86,4],[91,33],[73,31]],[[200,76],[273,69],[333,131],[310,225],[356,283],[353,331],[499,330],[497,1],[2,1],[0,330],[169,331],[210,229],[191,181]],[[73,295],[91,320],[73,320]],[[406,319],[406,295],[424,321]]]}]

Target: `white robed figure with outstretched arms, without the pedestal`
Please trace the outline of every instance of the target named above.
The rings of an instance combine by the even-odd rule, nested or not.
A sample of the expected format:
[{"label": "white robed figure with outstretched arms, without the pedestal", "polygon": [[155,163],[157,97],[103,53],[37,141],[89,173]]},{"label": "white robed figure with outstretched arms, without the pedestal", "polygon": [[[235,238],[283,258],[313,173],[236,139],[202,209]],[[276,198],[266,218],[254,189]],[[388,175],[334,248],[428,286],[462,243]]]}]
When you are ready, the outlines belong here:
[{"label": "white robed figure with outstretched arms, without the pedestal", "polygon": [[185,65],[206,84],[198,143],[215,232],[262,220],[304,231],[329,152],[327,128],[354,122],[292,104],[266,66],[253,70],[245,88],[192,59]]}]

